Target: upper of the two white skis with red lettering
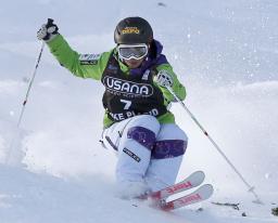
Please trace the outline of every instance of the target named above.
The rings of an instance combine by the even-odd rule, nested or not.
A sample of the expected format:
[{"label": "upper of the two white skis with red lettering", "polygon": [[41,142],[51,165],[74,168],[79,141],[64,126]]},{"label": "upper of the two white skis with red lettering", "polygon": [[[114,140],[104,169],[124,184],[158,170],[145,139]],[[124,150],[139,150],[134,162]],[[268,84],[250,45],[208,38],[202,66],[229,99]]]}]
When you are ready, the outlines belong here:
[{"label": "upper of the two white skis with red lettering", "polygon": [[181,181],[177,184],[174,184],[172,186],[168,186],[166,188],[163,188],[161,191],[153,192],[153,193],[149,194],[148,197],[150,197],[153,200],[166,199],[167,197],[169,197],[174,194],[199,186],[201,183],[203,183],[204,178],[205,178],[205,175],[204,175],[203,171],[195,171],[192,174],[190,174],[187,179],[185,179],[184,181]]}]

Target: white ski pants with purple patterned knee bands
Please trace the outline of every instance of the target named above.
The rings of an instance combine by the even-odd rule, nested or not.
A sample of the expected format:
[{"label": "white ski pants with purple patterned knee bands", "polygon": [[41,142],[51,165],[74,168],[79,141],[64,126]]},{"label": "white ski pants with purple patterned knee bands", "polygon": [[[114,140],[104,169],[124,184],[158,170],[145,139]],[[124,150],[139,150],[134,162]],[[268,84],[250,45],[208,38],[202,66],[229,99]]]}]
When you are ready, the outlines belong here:
[{"label": "white ski pants with purple patterned knee bands", "polygon": [[118,184],[132,182],[146,185],[142,191],[157,191],[175,183],[188,140],[177,124],[160,124],[155,117],[140,115],[105,129],[102,141],[117,150]]}]

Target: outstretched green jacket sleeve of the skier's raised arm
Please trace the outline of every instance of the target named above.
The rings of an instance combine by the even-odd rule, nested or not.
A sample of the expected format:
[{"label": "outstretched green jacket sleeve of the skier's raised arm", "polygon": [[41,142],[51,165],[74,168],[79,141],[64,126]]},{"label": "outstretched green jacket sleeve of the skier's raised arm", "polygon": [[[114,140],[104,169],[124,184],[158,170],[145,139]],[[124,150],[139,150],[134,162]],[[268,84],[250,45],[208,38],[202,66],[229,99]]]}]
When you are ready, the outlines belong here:
[{"label": "outstretched green jacket sleeve of the skier's raised arm", "polygon": [[80,78],[92,78],[94,80],[101,79],[112,53],[79,54],[70,47],[62,35],[58,35],[48,42],[48,47],[59,63],[72,74]]}]

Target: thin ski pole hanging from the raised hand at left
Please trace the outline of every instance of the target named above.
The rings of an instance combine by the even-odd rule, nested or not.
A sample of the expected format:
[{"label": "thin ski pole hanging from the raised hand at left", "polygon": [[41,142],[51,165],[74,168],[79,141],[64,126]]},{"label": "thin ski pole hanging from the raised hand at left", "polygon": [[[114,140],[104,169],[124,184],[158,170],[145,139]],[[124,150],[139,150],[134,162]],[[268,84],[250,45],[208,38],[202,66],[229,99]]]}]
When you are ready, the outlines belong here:
[{"label": "thin ski pole hanging from the raised hand at left", "polygon": [[[24,102],[23,102],[21,115],[20,115],[17,124],[16,124],[17,128],[20,128],[21,122],[22,122],[23,114],[24,114],[24,110],[25,110],[25,107],[26,107],[26,104],[27,104],[27,101],[28,101],[28,97],[29,97],[29,93],[30,93],[30,89],[31,89],[34,79],[35,79],[36,74],[37,74],[37,69],[38,69],[39,62],[40,62],[40,58],[41,58],[41,55],[42,55],[42,52],[43,52],[43,48],[45,48],[45,42],[42,42],[41,48],[40,48],[40,51],[39,51],[39,55],[38,55],[38,57],[37,57],[37,60],[36,60],[35,68],[34,68],[34,71],[33,71],[33,75],[31,75],[31,79],[30,79],[29,84],[28,84],[28,89],[27,89],[27,92],[26,92],[25,100],[24,100]],[[7,155],[7,158],[5,158],[5,163],[8,163],[9,160],[10,160],[10,156],[11,156],[12,150],[13,150],[14,142],[15,142],[15,135],[14,135],[14,137],[12,139],[12,142],[11,142],[11,145],[10,145],[10,149],[9,149],[8,155]]]}]

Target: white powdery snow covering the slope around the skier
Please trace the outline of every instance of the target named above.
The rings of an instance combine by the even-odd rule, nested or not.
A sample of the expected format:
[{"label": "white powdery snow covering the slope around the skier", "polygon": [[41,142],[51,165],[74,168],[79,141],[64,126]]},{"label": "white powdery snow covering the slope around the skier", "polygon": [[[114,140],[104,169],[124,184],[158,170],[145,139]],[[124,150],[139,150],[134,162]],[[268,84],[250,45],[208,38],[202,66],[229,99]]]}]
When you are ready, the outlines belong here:
[{"label": "white powdery snow covering the slope around the skier", "polygon": [[[278,206],[277,12],[278,3],[266,0],[1,2],[0,222],[278,222],[270,214]],[[214,195],[173,213],[119,199],[116,157],[98,142],[103,87],[70,75],[47,48],[16,127],[41,47],[36,31],[48,17],[78,52],[99,53],[114,45],[114,27],[129,15],[152,24],[187,87],[187,106],[264,205],[252,202],[179,105],[173,112],[189,147],[178,180],[201,169]],[[240,202],[240,210],[213,201]]]}]

